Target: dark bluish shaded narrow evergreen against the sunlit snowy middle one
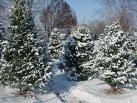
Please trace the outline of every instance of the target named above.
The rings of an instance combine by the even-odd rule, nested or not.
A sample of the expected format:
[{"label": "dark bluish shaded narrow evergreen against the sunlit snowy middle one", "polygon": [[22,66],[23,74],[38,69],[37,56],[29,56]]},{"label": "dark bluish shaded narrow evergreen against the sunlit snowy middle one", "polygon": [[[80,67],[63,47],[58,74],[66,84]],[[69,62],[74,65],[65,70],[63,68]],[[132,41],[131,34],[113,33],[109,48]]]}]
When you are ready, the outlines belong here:
[{"label": "dark bluish shaded narrow evergreen against the sunlit snowy middle one", "polygon": [[67,38],[64,45],[63,62],[67,78],[70,80],[78,79],[78,58],[77,58],[77,41],[73,36]]}]

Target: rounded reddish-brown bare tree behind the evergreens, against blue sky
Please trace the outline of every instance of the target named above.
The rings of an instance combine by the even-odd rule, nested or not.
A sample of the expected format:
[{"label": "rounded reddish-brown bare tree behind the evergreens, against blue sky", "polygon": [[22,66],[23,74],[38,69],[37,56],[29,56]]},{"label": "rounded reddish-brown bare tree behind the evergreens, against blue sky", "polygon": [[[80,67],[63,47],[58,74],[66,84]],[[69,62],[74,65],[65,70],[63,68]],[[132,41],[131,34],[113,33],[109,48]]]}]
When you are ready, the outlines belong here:
[{"label": "rounded reddish-brown bare tree behind the evergreens, against blue sky", "polygon": [[75,12],[64,0],[51,0],[43,10],[41,22],[45,25],[46,31],[51,31],[54,27],[70,28],[77,24]]}]

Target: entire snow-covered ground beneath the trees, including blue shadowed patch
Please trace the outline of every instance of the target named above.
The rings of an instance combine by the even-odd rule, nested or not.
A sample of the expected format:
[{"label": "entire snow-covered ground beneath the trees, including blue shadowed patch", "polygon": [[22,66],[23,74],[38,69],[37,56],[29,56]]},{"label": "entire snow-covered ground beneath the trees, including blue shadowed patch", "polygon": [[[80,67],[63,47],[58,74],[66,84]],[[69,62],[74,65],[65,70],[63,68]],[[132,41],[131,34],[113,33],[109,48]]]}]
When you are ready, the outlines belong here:
[{"label": "entire snow-covered ground beneath the trees, including blue shadowed patch", "polygon": [[74,82],[65,79],[57,71],[54,81],[49,84],[51,91],[34,94],[33,97],[16,96],[8,87],[0,87],[0,103],[137,103],[137,90],[125,90],[123,94],[108,94],[110,87],[104,82]]}]

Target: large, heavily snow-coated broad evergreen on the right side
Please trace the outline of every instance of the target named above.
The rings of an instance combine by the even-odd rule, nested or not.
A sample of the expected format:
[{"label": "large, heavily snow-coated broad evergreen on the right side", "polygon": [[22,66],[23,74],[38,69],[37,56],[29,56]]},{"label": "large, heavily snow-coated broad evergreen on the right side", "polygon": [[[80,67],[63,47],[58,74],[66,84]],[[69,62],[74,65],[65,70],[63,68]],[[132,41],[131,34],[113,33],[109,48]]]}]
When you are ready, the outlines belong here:
[{"label": "large, heavily snow-coated broad evergreen on the right side", "polygon": [[120,29],[119,22],[106,27],[104,35],[100,37],[93,71],[112,89],[125,85],[133,87],[137,83],[137,69],[133,64],[133,39],[133,35]]}]

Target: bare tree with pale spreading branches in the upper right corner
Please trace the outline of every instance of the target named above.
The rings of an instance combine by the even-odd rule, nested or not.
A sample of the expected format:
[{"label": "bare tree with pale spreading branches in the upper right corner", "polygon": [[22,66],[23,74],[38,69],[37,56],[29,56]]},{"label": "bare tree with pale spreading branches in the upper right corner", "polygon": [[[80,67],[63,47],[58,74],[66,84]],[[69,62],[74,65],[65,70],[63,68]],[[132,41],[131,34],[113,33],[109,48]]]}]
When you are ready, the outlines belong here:
[{"label": "bare tree with pale spreading branches in the upper right corner", "polygon": [[105,6],[105,10],[113,20],[117,18],[124,31],[134,28],[137,16],[137,0],[101,0]]}]

